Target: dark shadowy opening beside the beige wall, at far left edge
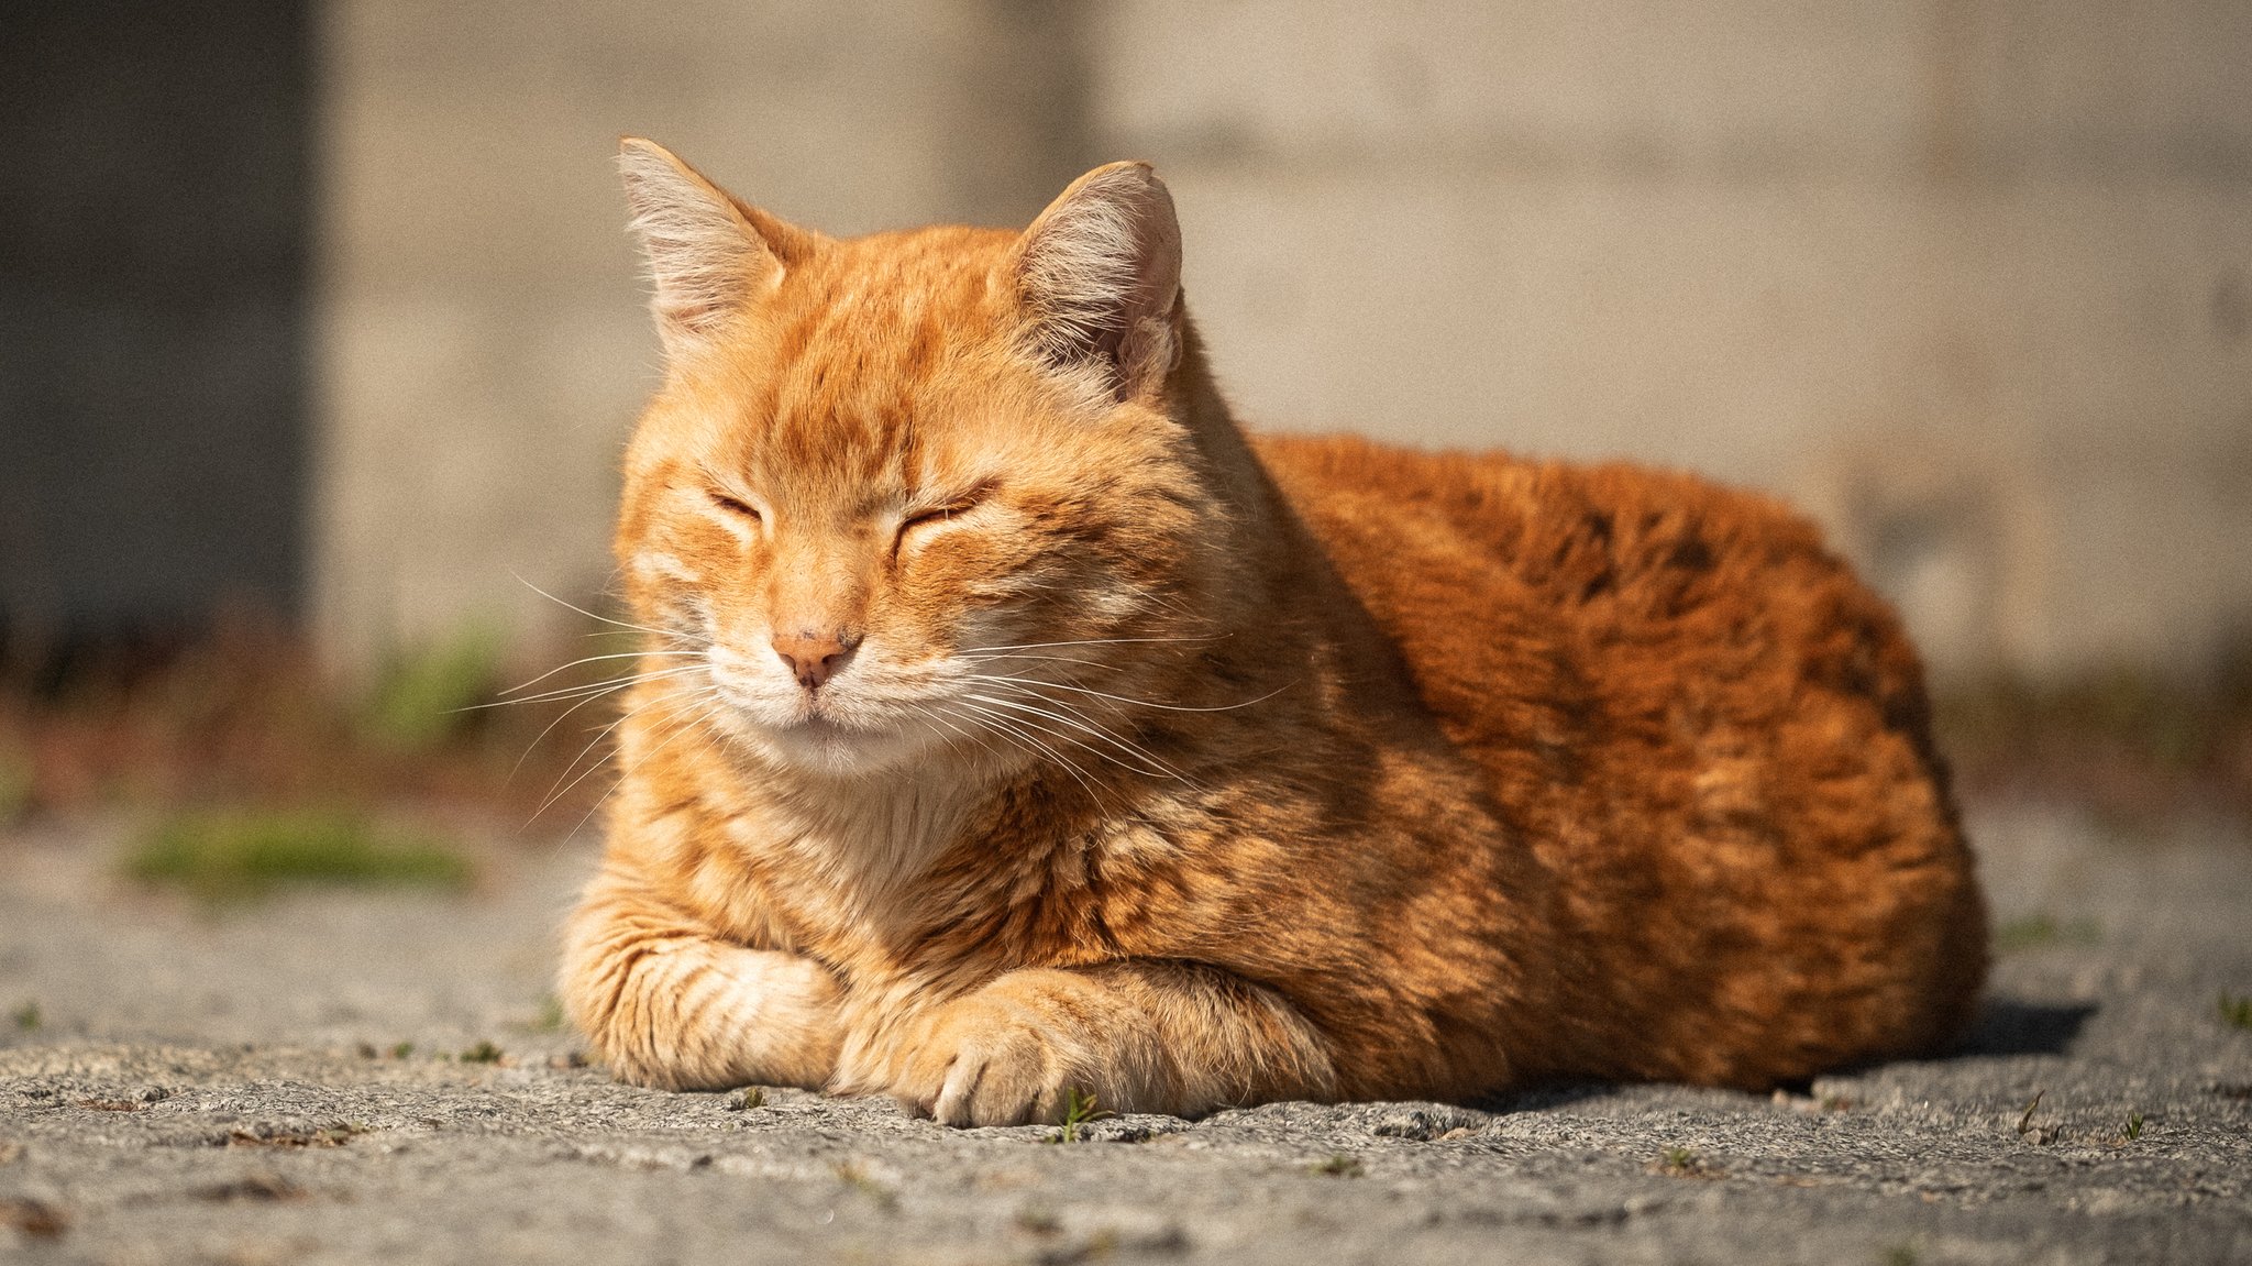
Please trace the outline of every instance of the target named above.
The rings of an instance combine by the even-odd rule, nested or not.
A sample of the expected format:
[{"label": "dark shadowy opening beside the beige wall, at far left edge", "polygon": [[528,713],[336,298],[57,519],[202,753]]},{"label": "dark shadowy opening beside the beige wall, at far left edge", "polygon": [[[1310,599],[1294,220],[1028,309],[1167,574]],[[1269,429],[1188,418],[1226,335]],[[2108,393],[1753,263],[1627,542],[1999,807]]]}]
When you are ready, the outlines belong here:
[{"label": "dark shadowy opening beside the beige wall, at far left edge", "polygon": [[0,640],[295,610],[309,27],[297,0],[0,9]]}]

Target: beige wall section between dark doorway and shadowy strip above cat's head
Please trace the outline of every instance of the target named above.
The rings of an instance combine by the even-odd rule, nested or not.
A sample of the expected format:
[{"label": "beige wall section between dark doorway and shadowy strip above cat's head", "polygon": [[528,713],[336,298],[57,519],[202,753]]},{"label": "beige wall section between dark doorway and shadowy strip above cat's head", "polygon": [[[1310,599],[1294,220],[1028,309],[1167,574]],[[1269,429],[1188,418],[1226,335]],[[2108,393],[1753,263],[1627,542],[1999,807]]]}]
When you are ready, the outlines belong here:
[{"label": "beige wall section between dark doorway and shadowy strip above cat's head", "polygon": [[[345,662],[608,581],[658,385],[619,133],[829,232],[1009,223],[1076,176],[1076,9],[991,0],[322,9],[313,617]],[[1054,185],[1054,189],[1047,189]]]}]

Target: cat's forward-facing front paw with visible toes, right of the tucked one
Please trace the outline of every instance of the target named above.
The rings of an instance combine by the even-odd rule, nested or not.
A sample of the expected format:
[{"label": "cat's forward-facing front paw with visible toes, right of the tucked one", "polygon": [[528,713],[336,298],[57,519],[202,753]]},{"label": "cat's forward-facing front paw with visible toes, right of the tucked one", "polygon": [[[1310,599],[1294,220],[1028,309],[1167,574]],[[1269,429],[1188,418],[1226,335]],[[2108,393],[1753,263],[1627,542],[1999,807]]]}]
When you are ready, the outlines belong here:
[{"label": "cat's forward-facing front paw with visible toes, right of the tucked one", "polygon": [[1099,1093],[1088,1063],[1047,1007],[984,991],[923,1025],[892,1093],[948,1126],[1061,1122],[1074,1090]]}]

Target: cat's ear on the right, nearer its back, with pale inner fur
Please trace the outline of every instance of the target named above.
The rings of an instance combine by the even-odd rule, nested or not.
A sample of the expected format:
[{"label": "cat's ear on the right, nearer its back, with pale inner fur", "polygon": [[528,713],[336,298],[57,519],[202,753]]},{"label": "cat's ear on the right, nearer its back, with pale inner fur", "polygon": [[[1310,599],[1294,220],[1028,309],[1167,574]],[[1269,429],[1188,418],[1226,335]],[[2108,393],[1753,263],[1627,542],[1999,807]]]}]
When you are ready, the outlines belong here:
[{"label": "cat's ear on the right, nearer its back, with pale inner fur", "polygon": [[1027,342],[1049,365],[1133,401],[1180,363],[1180,221],[1146,162],[1074,180],[1025,230],[1013,268]]}]

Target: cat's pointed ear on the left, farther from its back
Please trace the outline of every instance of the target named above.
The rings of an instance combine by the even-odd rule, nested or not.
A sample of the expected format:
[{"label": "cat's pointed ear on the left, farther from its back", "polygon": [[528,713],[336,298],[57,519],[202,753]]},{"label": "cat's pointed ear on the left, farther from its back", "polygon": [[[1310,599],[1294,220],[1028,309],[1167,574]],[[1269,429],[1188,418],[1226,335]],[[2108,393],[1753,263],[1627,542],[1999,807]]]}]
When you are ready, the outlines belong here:
[{"label": "cat's pointed ear on the left, farther from its back", "polygon": [[658,286],[649,306],[669,356],[709,347],[808,248],[802,230],[736,200],[653,140],[624,137],[617,169]]}]

